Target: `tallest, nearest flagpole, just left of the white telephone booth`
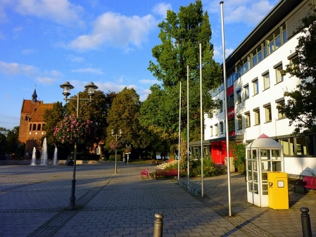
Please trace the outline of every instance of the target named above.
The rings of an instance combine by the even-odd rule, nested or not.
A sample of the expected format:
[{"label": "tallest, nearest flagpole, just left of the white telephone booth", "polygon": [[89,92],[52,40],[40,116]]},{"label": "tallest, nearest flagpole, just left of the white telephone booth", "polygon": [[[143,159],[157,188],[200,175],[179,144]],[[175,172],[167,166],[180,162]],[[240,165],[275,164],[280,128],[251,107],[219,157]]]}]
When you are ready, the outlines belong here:
[{"label": "tallest, nearest flagpole, just left of the white telephone booth", "polygon": [[227,179],[228,179],[228,205],[229,217],[232,216],[232,203],[230,194],[230,159],[229,159],[229,132],[228,132],[228,113],[227,113],[227,87],[226,87],[226,56],[225,56],[225,34],[224,34],[224,1],[220,1],[221,15],[222,15],[222,66],[224,74],[224,97],[225,97],[225,129],[226,129],[226,153],[227,153]]}]

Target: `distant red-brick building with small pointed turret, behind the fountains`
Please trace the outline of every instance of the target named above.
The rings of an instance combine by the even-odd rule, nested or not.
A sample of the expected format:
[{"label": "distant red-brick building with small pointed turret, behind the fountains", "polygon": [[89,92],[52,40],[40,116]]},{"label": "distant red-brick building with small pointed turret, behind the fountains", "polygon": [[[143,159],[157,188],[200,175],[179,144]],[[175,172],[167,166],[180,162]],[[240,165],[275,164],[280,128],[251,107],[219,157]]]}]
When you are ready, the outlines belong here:
[{"label": "distant red-brick building with small pointed turret, behind the fountains", "polygon": [[32,155],[32,150],[42,148],[42,137],[46,132],[43,127],[44,112],[53,108],[53,103],[43,103],[37,101],[36,89],[32,94],[32,100],[23,99],[21,115],[20,115],[20,130],[18,142],[25,143],[25,157]]}]

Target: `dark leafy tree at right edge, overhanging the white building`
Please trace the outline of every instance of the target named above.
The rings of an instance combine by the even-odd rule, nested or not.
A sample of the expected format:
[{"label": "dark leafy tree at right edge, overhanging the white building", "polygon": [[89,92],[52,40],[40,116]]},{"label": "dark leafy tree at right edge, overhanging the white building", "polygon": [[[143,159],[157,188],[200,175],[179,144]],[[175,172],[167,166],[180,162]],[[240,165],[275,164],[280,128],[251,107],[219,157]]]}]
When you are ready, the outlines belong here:
[{"label": "dark leafy tree at right edge, overhanging the white building", "polygon": [[293,91],[285,91],[284,96],[289,100],[284,105],[278,105],[280,113],[289,118],[289,124],[295,129],[293,134],[316,133],[316,15],[312,6],[308,15],[301,20],[296,29],[298,45],[296,52],[298,60],[286,65],[282,73],[289,73],[290,77],[298,77],[301,83]]}]

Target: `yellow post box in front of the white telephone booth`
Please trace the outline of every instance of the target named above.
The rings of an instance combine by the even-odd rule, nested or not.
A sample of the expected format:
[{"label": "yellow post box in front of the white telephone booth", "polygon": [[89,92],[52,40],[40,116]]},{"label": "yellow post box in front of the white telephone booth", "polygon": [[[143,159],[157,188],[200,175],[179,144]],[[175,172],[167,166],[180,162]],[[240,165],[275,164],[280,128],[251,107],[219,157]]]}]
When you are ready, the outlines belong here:
[{"label": "yellow post box in front of the white telephone booth", "polygon": [[269,207],[272,209],[289,209],[289,188],[287,174],[284,172],[267,172]]}]

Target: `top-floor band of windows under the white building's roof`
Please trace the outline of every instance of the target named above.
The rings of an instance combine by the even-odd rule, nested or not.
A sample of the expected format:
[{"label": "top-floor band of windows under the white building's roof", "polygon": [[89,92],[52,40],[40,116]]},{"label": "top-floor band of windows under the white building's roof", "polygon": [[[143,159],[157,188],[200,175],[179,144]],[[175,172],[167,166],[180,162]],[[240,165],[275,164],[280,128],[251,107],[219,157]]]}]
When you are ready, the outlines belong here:
[{"label": "top-floor band of windows under the white building's roof", "polygon": [[[227,88],[232,86],[236,79],[244,75],[248,70],[267,58],[275,50],[279,49],[282,44],[286,43],[286,24],[284,23],[277,28],[267,39],[257,46],[250,54],[248,54],[241,63],[236,65],[227,73]],[[282,68],[281,68],[282,70]],[[224,90],[224,84],[213,91],[213,96]]]}]

